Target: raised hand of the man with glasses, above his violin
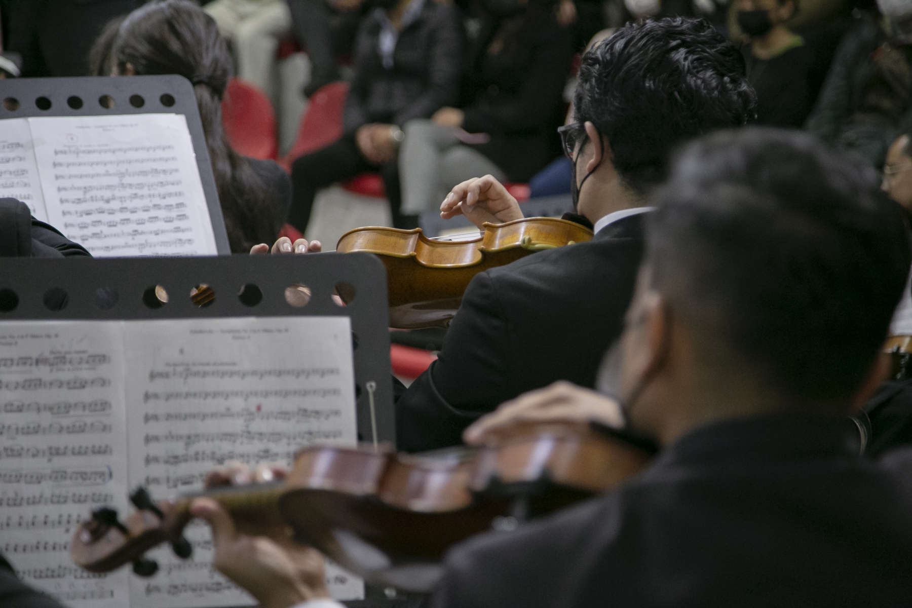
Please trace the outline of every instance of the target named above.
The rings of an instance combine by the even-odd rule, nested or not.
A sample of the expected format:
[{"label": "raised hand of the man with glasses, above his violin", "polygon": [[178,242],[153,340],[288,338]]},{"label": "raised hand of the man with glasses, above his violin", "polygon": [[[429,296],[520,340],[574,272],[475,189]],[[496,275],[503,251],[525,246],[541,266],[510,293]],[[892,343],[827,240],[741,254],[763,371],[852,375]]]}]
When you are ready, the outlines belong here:
[{"label": "raised hand of the man with glasses, above his violin", "polygon": [[491,175],[465,180],[450,191],[440,205],[440,217],[449,220],[457,215],[464,215],[479,228],[484,222],[503,223],[523,219],[519,203]]}]

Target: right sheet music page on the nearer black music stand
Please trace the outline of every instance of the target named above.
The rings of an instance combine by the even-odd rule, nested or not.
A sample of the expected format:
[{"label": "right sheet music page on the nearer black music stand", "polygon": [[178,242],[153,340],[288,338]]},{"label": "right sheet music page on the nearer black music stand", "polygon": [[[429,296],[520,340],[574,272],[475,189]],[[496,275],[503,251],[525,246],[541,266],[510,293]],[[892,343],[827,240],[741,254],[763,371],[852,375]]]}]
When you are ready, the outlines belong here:
[{"label": "right sheet music page on the nearer black music stand", "polygon": [[[131,321],[125,334],[130,484],[156,499],[202,488],[229,460],[291,464],[312,443],[354,445],[355,378],[348,317]],[[133,608],[251,605],[212,570],[204,524],[188,528],[191,560],[153,551],[150,579],[131,577]],[[338,599],[363,583],[327,572]]]}]

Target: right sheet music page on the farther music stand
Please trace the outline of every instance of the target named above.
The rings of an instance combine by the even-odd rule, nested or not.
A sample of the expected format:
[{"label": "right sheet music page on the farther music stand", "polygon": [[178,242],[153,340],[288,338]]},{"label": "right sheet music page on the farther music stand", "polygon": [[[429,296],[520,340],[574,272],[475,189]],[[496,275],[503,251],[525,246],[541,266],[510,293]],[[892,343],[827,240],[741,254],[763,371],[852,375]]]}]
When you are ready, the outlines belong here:
[{"label": "right sheet music page on the farther music stand", "polygon": [[96,257],[215,255],[181,114],[28,119],[48,221]]}]

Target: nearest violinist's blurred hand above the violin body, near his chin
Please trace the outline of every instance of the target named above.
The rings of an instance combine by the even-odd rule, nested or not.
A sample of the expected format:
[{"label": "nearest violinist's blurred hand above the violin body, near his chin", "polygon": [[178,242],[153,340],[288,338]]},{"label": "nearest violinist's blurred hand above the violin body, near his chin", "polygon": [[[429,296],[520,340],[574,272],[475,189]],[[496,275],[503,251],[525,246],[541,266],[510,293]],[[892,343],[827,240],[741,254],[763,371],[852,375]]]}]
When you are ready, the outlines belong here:
[{"label": "nearest violinist's blurred hand above the violin body, near his chin", "polygon": [[624,414],[615,399],[560,381],[503,403],[466,428],[462,438],[479,445],[523,422],[599,422],[621,428]]}]

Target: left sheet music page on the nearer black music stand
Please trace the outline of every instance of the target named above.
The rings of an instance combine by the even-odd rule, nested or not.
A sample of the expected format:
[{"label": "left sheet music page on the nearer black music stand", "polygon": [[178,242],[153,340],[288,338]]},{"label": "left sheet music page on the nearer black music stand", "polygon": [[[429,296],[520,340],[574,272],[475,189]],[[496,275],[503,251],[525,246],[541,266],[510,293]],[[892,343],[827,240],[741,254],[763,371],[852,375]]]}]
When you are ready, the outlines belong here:
[{"label": "left sheet music page on the nearer black music stand", "polygon": [[126,509],[121,323],[0,323],[0,551],[71,608],[129,605],[128,574],[70,561],[78,522]]}]

